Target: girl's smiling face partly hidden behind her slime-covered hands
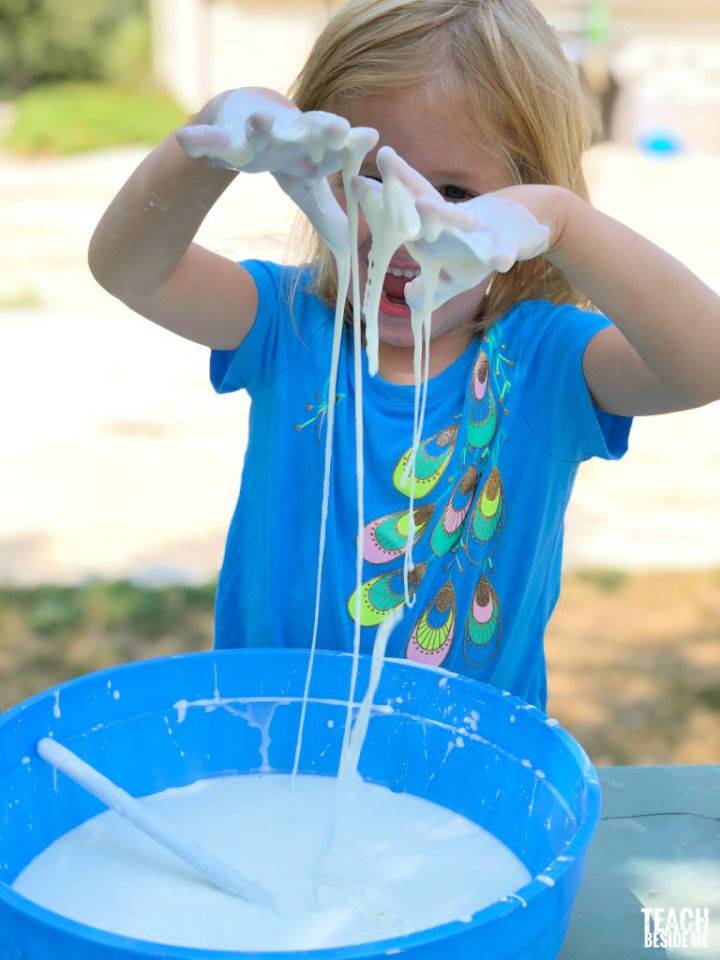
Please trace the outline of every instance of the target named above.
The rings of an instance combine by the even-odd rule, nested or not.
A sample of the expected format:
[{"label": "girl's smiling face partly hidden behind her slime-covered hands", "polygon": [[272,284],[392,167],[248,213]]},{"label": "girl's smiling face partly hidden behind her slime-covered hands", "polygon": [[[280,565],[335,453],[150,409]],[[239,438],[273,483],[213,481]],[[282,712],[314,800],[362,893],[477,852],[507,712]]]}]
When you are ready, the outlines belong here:
[{"label": "girl's smiling face partly hidden behind her slime-covered hands", "polygon": [[[468,120],[462,116],[458,105],[439,92],[434,98],[437,106],[430,108],[429,102],[433,101],[427,90],[406,89],[357,98],[336,109],[335,112],[346,117],[352,126],[374,127],[380,134],[377,147],[363,162],[361,175],[379,179],[375,154],[379,147],[388,144],[450,202],[469,200],[510,186],[512,180],[502,161],[485,147],[483,131],[478,130],[473,144],[463,136],[460,124],[467,130]],[[339,174],[331,179],[331,184],[344,207]],[[367,278],[370,245],[370,231],[361,210],[358,234],[361,292]],[[395,251],[390,261],[390,271],[393,270],[418,270],[417,263],[404,246]],[[441,346],[441,341],[446,344],[455,342],[461,349],[469,342],[471,334],[465,321],[476,315],[491,279],[492,276],[479,286],[458,294],[433,312],[431,339],[436,348]],[[397,296],[399,289],[398,280],[386,276],[378,318],[380,341],[381,345],[388,347],[410,348],[413,345],[410,308]]]}]

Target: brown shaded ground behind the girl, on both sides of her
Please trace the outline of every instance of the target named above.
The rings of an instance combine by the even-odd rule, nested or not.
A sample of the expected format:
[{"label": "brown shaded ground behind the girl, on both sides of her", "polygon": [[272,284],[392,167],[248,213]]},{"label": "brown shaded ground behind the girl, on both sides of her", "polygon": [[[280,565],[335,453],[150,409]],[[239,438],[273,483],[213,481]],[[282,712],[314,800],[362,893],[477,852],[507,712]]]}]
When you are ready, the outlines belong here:
[{"label": "brown shaded ground behind the girl, on both sides of her", "polygon": [[[208,649],[212,588],[0,593],[0,710],[114,663]],[[720,763],[720,570],[576,572],[546,636],[548,713],[599,765]]]}]

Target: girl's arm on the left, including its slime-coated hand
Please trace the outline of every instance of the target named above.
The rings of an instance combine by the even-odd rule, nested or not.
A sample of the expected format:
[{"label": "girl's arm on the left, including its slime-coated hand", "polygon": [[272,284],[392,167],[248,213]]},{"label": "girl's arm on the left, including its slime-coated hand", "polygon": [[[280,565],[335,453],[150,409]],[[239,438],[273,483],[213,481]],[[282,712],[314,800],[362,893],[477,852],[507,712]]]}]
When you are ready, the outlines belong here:
[{"label": "girl's arm on the left, including its slime-coated hand", "polygon": [[[257,290],[247,271],[192,242],[212,205],[238,170],[269,171],[312,218],[320,205],[337,206],[325,178],[340,169],[346,147],[364,154],[376,139],[333,114],[301,113],[273,90],[219,94],[153,150],[115,197],[90,242],[90,270],[155,323],[234,349],[254,323]],[[335,232],[344,236],[337,219]]]}]

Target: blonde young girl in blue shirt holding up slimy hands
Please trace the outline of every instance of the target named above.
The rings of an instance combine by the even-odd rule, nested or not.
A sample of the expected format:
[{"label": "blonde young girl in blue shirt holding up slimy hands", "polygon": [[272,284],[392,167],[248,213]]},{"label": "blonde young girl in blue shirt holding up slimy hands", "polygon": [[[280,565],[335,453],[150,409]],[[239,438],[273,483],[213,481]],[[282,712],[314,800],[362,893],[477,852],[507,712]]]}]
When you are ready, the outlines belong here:
[{"label": "blonde young girl in blue shirt holding up slimy hands", "polygon": [[[215,389],[252,398],[216,645],[310,645],[337,290],[330,248],[344,230],[338,171],[354,137],[367,151],[361,176],[379,179],[376,150],[393,147],[429,181],[417,188],[418,209],[439,222],[492,194],[508,218],[529,212],[548,237],[535,255],[496,231],[496,269],[434,310],[411,478],[404,292],[418,264],[404,246],[392,256],[377,376],[363,351],[361,649],[405,600],[414,482],[413,602],[388,655],[466,673],[545,709],[543,635],[578,465],[622,457],[636,414],[720,396],[720,301],[588,202],[580,94],[529,0],[351,0],[318,38],[292,98],[259,89],[214,98],[143,161],[90,247],[106,289],[210,347]],[[309,265],[235,264],[192,243],[238,169],[271,171],[321,225]],[[361,218],[361,290],[369,249]],[[341,650],[352,649],[358,609],[354,392],[348,326],[317,637]]]}]

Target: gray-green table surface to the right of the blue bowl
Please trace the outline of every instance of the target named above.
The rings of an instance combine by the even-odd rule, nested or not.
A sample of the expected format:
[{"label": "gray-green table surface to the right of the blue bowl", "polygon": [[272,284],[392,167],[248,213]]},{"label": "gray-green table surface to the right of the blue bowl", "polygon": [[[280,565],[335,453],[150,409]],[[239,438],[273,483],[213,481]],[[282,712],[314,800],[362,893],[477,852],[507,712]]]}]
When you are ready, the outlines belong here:
[{"label": "gray-green table surface to the right of the blue bowl", "polygon": [[[559,960],[720,960],[720,765],[598,775],[601,821]],[[641,907],[708,908],[709,947],[645,947]]]}]

